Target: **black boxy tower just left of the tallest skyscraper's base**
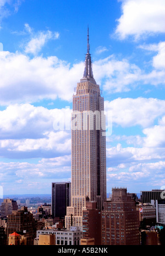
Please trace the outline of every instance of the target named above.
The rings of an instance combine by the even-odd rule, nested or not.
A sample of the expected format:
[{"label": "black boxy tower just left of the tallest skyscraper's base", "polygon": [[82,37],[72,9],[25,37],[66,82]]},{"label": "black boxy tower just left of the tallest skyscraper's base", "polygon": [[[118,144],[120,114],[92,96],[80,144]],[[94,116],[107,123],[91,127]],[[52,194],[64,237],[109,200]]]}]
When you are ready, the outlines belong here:
[{"label": "black boxy tower just left of the tallest skyscraper's base", "polygon": [[52,182],[52,217],[63,219],[71,200],[70,182]]}]

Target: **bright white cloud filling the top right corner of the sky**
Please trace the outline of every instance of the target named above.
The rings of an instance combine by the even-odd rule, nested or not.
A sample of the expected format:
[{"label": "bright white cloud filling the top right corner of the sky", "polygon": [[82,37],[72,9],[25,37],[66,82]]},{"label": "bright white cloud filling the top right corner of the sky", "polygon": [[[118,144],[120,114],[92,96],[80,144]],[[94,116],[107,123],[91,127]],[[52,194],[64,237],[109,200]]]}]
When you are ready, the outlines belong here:
[{"label": "bright white cloud filling the top right corner of the sky", "polygon": [[122,16],[118,19],[116,34],[120,39],[165,32],[164,0],[123,0]]}]

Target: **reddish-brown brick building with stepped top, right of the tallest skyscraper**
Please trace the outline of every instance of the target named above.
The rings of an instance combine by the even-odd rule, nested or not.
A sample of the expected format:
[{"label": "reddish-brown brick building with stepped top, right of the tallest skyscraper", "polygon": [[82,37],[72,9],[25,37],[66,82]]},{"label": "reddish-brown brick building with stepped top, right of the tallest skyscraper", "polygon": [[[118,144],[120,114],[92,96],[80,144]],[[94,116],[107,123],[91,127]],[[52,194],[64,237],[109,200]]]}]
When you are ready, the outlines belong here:
[{"label": "reddish-brown brick building with stepped top, right of the tallest skyscraper", "polygon": [[102,211],[102,245],[139,245],[139,212],[126,188],[113,188]]}]

